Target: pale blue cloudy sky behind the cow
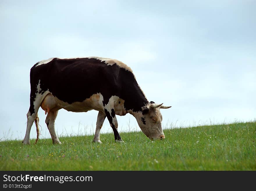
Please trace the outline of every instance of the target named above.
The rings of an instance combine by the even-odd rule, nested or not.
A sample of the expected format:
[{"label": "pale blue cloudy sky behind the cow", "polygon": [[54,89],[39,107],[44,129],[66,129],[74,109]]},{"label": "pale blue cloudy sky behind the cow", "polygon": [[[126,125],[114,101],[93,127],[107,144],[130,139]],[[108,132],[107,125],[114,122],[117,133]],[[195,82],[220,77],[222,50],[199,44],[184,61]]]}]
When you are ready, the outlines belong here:
[{"label": "pale blue cloudy sky behind the cow", "polygon": [[[30,68],[51,57],[124,62],[149,101],[172,106],[161,109],[163,129],[255,121],[255,9],[248,0],[1,0],[0,140],[24,138]],[[56,132],[94,134],[97,113],[61,109]],[[50,138],[38,116],[40,138]],[[117,119],[119,132],[140,131],[132,115]]]}]

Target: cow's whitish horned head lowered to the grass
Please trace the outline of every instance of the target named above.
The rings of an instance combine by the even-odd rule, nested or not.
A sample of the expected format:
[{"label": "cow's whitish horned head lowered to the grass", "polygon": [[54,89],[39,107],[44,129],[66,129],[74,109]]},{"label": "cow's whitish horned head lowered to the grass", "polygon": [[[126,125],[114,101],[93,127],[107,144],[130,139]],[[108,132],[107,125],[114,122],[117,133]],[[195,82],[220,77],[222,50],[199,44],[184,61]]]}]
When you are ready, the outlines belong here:
[{"label": "cow's whitish horned head lowered to the grass", "polygon": [[156,104],[153,101],[148,103],[140,115],[136,117],[142,132],[150,139],[164,139],[162,129],[162,114],[160,108],[167,109],[171,106],[163,106],[163,103]]}]

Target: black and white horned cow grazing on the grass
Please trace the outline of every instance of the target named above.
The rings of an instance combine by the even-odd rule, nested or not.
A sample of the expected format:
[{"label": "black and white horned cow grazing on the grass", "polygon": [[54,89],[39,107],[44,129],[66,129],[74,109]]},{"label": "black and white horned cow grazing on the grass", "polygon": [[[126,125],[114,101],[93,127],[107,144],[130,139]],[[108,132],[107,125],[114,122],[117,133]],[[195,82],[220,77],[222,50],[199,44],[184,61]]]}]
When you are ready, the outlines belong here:
[{"label": "black and white horned cow grazing on the grass", "polygon": [[116,115],[133,115],[142,132],[150,139],[164,139],[160,108],[163,103],[148,101],[129,66],[116,59],[101,57],[50,58],[37,62],[30,70],[30,107],[27,113],[24,144],[30,144],[30,130],[35,121],[37,138],[38,110],[47,114],[45,123],[54,144],[61,144],[54,123],[58,110],[72,112],[99,111],[93,142],[100,141],[105,118],[116,142],[123,142],[118,133]]}]

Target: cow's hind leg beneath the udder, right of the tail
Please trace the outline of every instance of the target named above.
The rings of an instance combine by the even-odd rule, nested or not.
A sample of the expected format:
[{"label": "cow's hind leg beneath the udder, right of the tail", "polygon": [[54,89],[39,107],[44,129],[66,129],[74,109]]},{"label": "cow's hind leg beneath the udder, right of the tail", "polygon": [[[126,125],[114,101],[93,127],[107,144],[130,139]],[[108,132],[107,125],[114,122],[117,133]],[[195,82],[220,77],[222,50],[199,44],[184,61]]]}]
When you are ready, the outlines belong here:
[{"label": "cow's hind leg beneath the udder, right of the tail", "polygon": [[58,114],[58,110],[50,110],[45,119],[45,123],[51,134],[51,139],[53,144],[61,144],[61,141],[59,140],[54,128],[54,123],[55,123],[57,114]]}]

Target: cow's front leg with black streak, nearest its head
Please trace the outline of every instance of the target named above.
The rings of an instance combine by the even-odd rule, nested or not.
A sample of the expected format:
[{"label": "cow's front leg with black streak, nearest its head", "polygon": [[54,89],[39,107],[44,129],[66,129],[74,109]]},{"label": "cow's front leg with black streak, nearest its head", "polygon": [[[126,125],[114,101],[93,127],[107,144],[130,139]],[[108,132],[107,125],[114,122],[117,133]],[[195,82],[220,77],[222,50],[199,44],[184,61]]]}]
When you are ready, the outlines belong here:
[{"label": "cow's front leg with black streak, nearest its head", "polygon": [[106,114],[106,116],[109,120],[110,126],[113,129],[115,142],[124,142],[121,139],[120,134],[117,131],[118,123],[117,123],[117,119],[116,119],[116,116],[115,116],[115,110],[113,108],[110,111],[105,109],[105,114]]}]

